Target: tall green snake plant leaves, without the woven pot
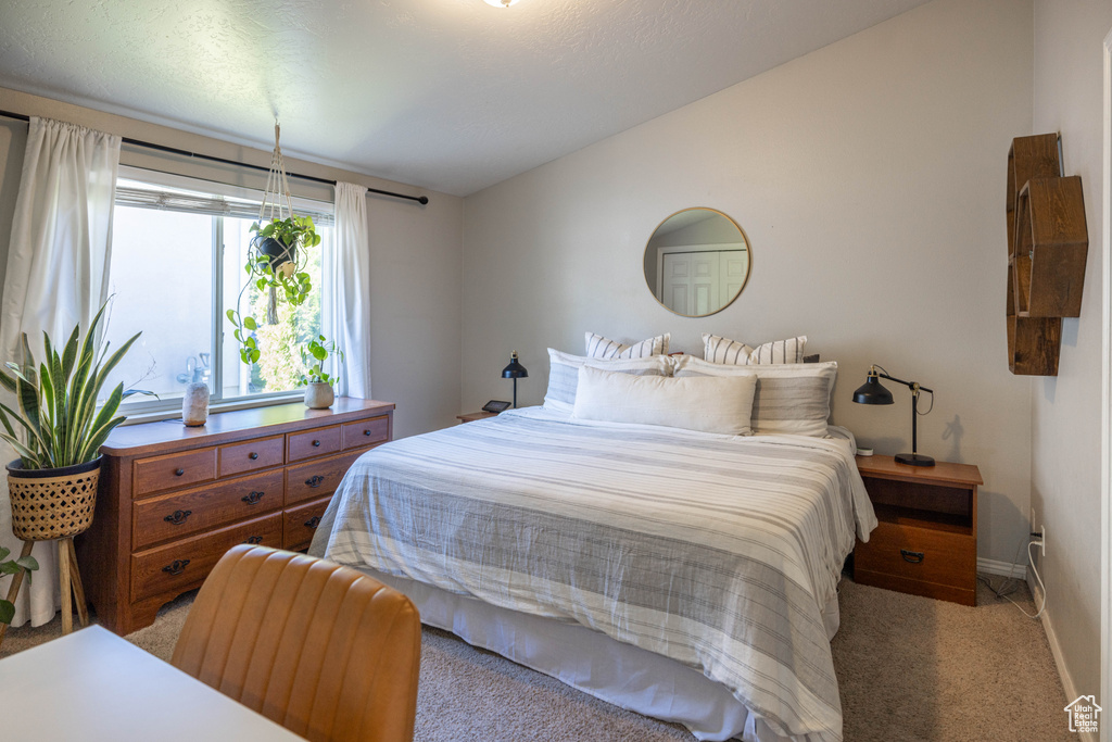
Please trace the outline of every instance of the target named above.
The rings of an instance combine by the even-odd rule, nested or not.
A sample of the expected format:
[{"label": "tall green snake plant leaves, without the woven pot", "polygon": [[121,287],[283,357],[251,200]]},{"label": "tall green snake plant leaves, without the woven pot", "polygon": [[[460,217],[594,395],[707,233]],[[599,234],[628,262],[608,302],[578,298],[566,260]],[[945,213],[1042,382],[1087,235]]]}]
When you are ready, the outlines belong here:
[{"label": "tall green snake plant leaves, without the woven pot", "polygon": [[81,326],[75,327],[61,354],[43,333],[46,358],[38,365],[24,333],[22,363],[9,362],[4,364],[8,370],[0,370],[0,386],[19,403],[18,413],[0,404],[0,439],[16,448],[23,468],[61,468],[96,459],[108,434],[125,421],[122,415],[116,416],[120,402],[131,394],[146,394],[125,392],[119,384],[97,409],[108,375],[141,335],[136,334],[109,356],[110,344],[101,347],[96,340],[103,314],[105,306],[83,338]]}]

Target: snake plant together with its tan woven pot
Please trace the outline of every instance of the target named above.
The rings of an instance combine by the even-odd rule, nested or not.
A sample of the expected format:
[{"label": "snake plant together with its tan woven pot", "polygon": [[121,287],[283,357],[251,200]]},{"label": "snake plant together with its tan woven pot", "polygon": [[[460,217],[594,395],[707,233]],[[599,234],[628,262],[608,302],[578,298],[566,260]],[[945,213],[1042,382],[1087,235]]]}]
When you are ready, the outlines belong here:
[{"label": "snake plant together with its tan woven pot", "polygon": [[11,527],[23,541],[49,541],[81,533],[92,523],[100,446],[125,421],[117,416],[120,402],[131,394],[117,385],[98,409],[97,399],[111,370],[139,337],[136,334],[108,355],[100,347],[97,328],[100,308],[81,337],[73,328],[61,353],[42,334],[44,359],[36,364],[27,334],[22,363],[6,364],[0,385],[16,395],[19,412],[0,404],[0,438],[19,458],[8,464]]}]

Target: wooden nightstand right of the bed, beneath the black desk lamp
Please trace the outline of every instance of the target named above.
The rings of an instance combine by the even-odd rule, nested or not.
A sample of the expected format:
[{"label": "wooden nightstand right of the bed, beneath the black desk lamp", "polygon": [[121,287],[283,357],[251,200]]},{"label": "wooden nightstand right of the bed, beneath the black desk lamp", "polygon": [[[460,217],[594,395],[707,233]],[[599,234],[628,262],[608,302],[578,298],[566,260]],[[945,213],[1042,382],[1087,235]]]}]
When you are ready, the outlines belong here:
[{"label": "wooden nightstand right of the bed, beneath the black desk lamp", "polygon": [[857,456],[880,524],[854,548],[854,581],[913,595],[976,604],[976,488],[970,464],[896,464]]}]

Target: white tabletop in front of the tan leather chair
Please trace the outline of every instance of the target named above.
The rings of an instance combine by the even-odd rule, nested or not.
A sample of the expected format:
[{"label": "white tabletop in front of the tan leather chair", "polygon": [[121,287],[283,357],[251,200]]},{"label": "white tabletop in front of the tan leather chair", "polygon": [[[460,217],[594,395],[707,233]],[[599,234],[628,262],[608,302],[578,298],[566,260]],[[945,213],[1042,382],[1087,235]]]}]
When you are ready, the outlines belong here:
[{"label": "white tabletop in front of the tan leather chair", "polygon": [[301,739],[100,626],[0,660],[0,689],[6,740]]}]

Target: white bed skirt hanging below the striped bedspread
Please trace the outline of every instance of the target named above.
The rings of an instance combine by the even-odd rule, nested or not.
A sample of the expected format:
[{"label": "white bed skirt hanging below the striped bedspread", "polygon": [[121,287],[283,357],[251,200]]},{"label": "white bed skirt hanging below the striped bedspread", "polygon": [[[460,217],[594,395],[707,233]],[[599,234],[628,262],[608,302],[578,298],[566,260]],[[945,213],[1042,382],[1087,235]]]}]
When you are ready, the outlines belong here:
[{"label": "white bed skirt hanging below the striped bedspread", "polygon": [[[421,623],[550,675],[572,687],[645,716],[683,724],[699,740],[786,742],[733,694],[697,671],[615,641],[582,624],[535,616],[420,582],[364,568],[405,593]],[[837,631],[837,596],[823,611],[828,636]]]}]

